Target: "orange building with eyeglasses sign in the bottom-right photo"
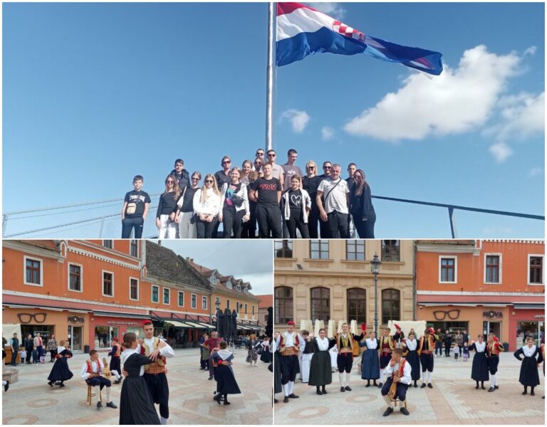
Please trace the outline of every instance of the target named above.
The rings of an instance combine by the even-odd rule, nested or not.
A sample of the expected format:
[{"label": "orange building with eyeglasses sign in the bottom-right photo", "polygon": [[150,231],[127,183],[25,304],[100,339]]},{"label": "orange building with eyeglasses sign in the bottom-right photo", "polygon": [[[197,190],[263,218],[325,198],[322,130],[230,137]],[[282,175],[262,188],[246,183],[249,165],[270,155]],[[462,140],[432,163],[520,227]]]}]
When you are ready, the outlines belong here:
[{"label": "orange building with eyeglasses sign in the bottom-right photo", "polygon": [[545,333],[543,241],[416,241],[417,320],[494,332],[512,351]]}]

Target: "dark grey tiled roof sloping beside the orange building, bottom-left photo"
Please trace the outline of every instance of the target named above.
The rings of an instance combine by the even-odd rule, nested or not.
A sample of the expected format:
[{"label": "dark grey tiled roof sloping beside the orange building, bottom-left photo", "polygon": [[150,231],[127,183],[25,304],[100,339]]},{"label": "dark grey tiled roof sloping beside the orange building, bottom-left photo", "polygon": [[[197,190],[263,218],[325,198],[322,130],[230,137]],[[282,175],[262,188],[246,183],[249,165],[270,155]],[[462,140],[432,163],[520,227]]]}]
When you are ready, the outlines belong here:
[{"label": "dark grey tiled roof sloping beside the orange building, bottom-left photo", "polygon": [[165,246],[150,241],[146,241],[146,268],[149,276],[171,280],[181,285],[212,290],[209,281],[197,273],[182,256]]}]

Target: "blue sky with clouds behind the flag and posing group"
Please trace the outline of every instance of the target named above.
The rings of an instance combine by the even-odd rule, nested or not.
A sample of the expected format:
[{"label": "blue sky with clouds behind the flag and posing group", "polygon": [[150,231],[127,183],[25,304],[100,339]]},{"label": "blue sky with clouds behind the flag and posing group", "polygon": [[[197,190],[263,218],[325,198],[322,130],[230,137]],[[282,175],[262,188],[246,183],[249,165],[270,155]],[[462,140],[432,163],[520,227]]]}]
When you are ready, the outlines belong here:
[{"label": "blue sky with clouds behind the flag and posing group", "polygon": [[[442,52],[445,71],[332,54],[279,68],[279,162],[294,147],[301,167],[356,162],[376,195],[543,214],[543,4],[318,7]],[[264,146],[266,4],[4,4],[3,19],[4,211],[122,198],[135,174],[157,193],[177,157],[203,174]],[[374,203],[377,237],[449,236],[446,210]],[[460,237],[543,236],[543,221],[456,221]]]}]

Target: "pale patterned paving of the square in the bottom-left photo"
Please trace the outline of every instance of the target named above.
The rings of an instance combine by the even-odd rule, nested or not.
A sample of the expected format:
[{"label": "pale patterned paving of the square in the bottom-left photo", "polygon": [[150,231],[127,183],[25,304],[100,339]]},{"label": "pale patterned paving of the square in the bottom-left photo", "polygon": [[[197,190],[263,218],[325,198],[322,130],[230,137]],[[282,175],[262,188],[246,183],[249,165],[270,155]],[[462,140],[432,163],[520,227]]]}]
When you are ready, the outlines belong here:
[{"label": "pale patterned paving of the square in the bottom-left photo", "polygon": [[[103,354],[100,356],[103,358]],[[268,364],[256,367],[245,363],[246,351],[235,350],[234,373],[241,394],[229,396],[231,405],[213,401],[215,381],[208,381],[207,371],[199,370],[197,349],[177,349],[167,362],[170,388],[170,424],[271,424],[272,376]],[[119,409],[96,408],[85,403],[87,385],[80,378],[80,368],[87,359],[78,354],[69,359],[73,378],[66,387],[53,389],[47,377],[53,364],[18,367],[19,381],[2,391],[4,424],[118,424]],[[120,406],[121,384],[113,384],[112,400]],[[103,389],[103,401],[105,399]],[[156,405],[157,408],[157,405]]]}]

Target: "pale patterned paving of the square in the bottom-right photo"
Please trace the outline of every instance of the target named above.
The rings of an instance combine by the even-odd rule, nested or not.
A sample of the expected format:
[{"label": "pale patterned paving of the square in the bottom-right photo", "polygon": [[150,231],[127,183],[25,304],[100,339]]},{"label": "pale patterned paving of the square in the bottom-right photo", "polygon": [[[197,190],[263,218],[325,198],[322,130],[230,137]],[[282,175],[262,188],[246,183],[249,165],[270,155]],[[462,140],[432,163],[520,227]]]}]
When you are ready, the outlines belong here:
[{"label": "pale patterned paving of the square in the bottom-right photo", "polygon": [[[545,382],[543,371],[539,372],[541,385],[536,387],[536,396],[523,396],[519,383],[520,364],[512,353],[501,354],[499,362],[499,389],[493,393],[475,389],[471,379],[472,359],[434,359],[433,389],[409,388],[407,405],[410,411],[405,416],[395,411],[387,417],[382,413],[387,408],[380,389],[365,388],[366,381],[358,374],[355,359],[350,387],[352,391],[340,392],[338,372],[333,373],[333,384],[327,386],[328,394],[318,396],[316,388],[297,382],[295,394],[299,399],[290,399],[283,404],[283,396],[274,405],[274,423],[278,424],[536,424],[545,425]],[[297,379],[298,381],[298,379]]]}]

